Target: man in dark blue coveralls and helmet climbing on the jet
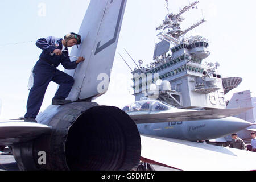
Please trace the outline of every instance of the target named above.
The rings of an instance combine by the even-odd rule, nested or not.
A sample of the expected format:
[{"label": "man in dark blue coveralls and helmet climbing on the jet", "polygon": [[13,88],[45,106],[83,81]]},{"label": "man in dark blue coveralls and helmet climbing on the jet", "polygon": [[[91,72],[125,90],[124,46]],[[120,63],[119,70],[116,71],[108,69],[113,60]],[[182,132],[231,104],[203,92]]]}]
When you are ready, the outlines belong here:
[{"label": "man in dark blue coveralls and helmet climbing on the jet", "polygon": [[38,39],[36,46],[42,49],[43,52],[33,70],[34,84],[28,96],[26,122],[36,122],[36,115],[38,115],[47,86],[51,81],[60,85],[52,99],[52,105],[63,105],[71,102],[71,100],[65,100],[65,98],[68,97],[72,89],[74,79],[67,73],[59,71],[57,67],[62,64],[65,69],[75,69],[77,64],[84,61],[84,57],[79,57],[76,61],[71,62],[68,56],[67,47],[80,43],[81,36],[75,33],[65,35],[64,39],[53,36]]}]

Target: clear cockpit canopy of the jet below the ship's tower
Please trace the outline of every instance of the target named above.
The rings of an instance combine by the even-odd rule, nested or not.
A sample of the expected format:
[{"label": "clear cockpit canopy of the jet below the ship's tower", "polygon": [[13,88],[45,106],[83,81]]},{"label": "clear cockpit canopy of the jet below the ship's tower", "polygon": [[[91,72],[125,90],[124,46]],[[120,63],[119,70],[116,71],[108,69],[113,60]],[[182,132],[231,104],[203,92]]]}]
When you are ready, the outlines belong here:
[{"label": "clear cockpit canopy of the jet below the ship's tower", "polygon": [[164,111],[175,108],[169,104],[166,104],[161,101],[155,100],[144,100],[137,101],[132,104],[126,105],[123,107],[123,111],[125,112],[135,112],[135,111]]}]

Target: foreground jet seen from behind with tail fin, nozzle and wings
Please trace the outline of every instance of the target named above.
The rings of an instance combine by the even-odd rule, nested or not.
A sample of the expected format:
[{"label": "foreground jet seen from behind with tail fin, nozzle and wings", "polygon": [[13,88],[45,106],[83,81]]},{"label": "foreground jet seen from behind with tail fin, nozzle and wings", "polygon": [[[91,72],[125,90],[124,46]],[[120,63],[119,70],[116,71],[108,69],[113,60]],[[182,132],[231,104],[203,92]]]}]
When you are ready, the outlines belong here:
[{"label": "foreground jet seen from behind with tail fin, nozzle and wings", "polygon": [[[73,102],[50,105],[38,115],[38,123],[1,122],[0,145],[13,146],[20,170],[130,170],[142,158],[183,170],[255,169],[252,152],[140,135],[136,123],[147,123],[143,118],[131,118],[117,107],[91,102],[108,90],[98,77],[110,78],[126,1],[90,1],[79,31],[81,46],[71,52],[86,61],[65,71],[75,79],[68,96]],[[229,115],[214,111],[179,114],[191,120]],[[168,122],[183,121],[177,113],[168,117]]]}]

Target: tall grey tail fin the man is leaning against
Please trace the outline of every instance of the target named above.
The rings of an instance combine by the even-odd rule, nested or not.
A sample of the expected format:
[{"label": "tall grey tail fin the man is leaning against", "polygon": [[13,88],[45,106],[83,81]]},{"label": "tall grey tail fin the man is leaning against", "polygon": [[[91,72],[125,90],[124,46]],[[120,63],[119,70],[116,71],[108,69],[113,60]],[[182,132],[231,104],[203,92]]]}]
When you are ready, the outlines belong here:
[{"label": "tall grey tail fin the man is leaning against", "polygon": [[67,99],[90,99],[108,90],[126,1],[90,1],[79,30],[82,36],[81,46],[78,49],[74,47],[71,52],[71,55],[84,56],[85,61],[75,70],[65,70],[75,79]]}]

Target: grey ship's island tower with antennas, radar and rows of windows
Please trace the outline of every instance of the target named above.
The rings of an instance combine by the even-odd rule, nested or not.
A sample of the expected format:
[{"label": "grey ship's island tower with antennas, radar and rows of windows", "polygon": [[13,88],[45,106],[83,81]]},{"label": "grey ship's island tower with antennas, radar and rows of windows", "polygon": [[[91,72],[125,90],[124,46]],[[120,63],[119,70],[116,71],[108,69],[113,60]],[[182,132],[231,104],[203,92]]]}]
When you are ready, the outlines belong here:
[{"label": "grey ship's island tower with antennas, radar and rows of windows", "polygon": [[[168,1],[166,2],[168,6]],[[163,23],[156,28],[160,42],[155,46],[154,61],[150,66],[136,68],[131,72],[136,101],[146,100],[152,91],[151,83],[154,83],[158,86],[157,99],[173,106],[183,109],[226,108],[225,94],[236,88],[242,78],[222,79],[218,73],[218,62],[203,63],[210,55],[207,38],[199,35],[185,36],[205,22],[201,19],[192,26],[181,29],[180,23],[185,20],[181,15],[195,8],[197,3],[199,1],[190,3],[177,14],[168,12]],[[141,65],[142,61],[139,63]],[[170,88],[163,88],[161,80],[170,82]]]}]

